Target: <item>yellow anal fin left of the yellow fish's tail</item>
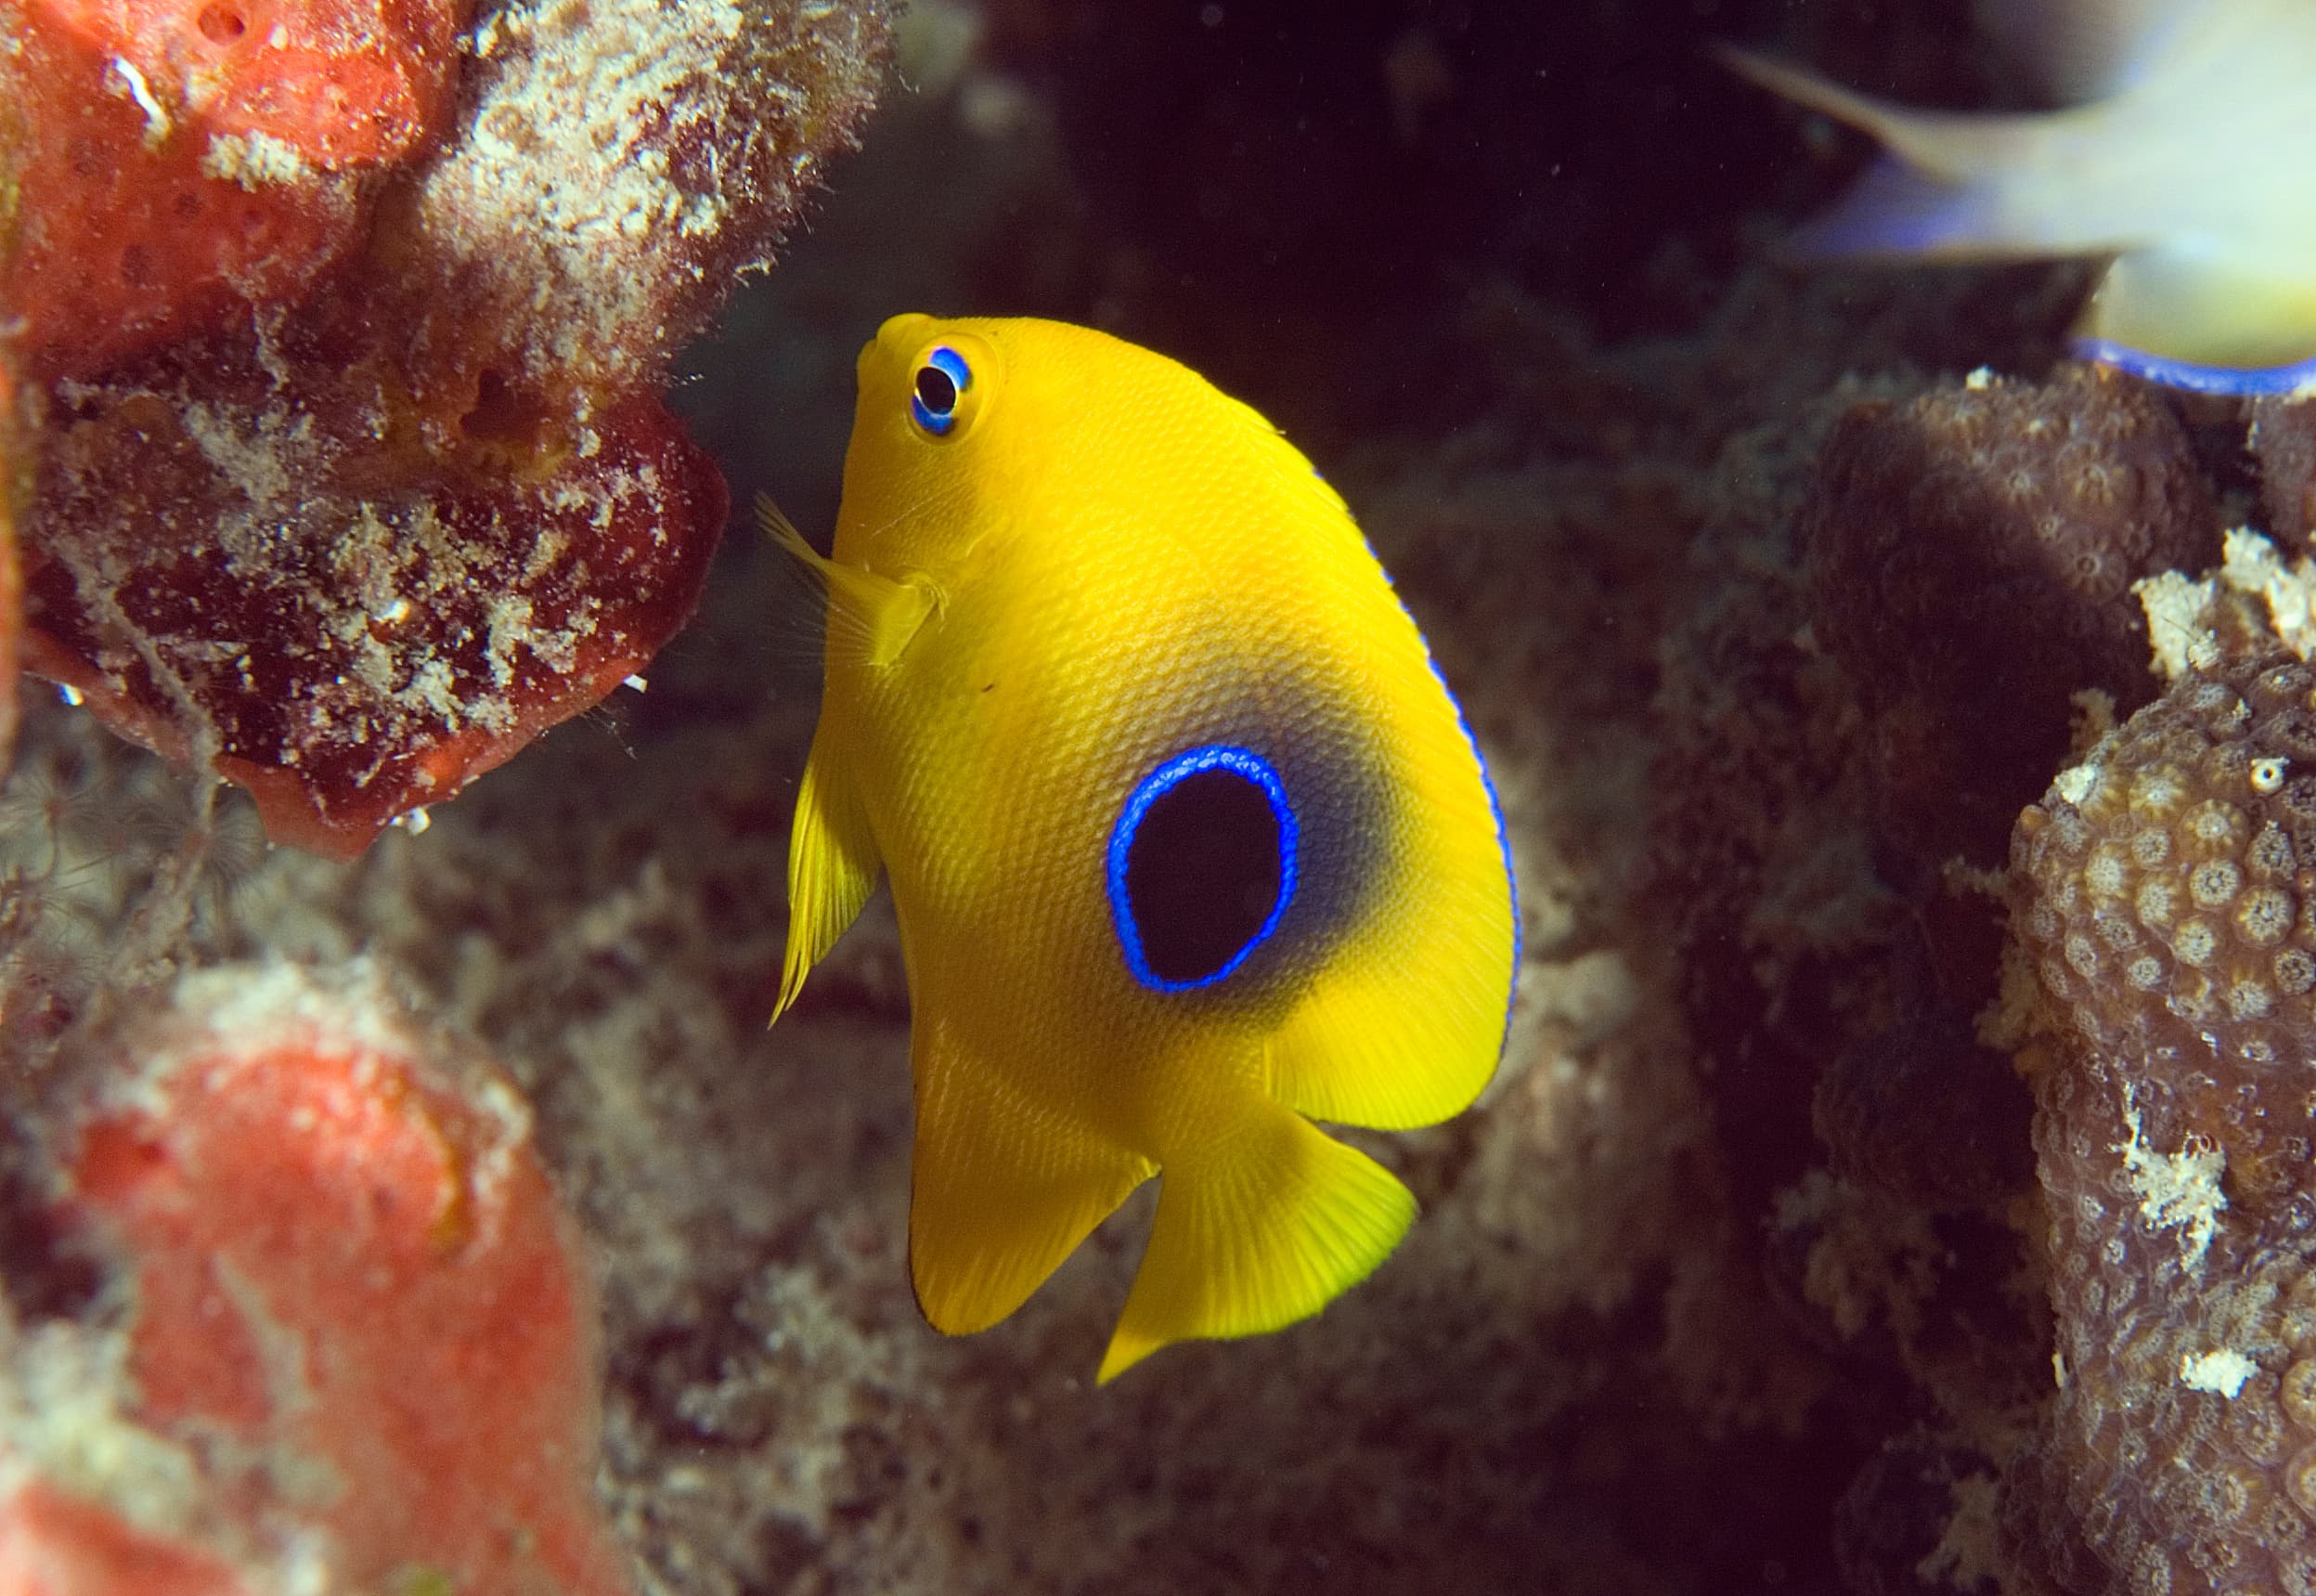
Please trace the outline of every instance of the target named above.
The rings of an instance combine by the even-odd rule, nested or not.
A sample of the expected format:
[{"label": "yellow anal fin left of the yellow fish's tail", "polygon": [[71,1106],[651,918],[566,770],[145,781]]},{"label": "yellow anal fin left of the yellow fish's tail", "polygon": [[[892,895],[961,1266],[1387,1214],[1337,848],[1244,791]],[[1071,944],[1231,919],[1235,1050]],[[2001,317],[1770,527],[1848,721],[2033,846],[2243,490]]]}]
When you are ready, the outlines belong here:
[{"label": "yellow anal fin left of the yellow fish's tail", "polygon": [[1021,1306],[1156,1165],[975,1068],[922,1010],[910,1063],[908,1269],[933,1330],[968,1334]]}]

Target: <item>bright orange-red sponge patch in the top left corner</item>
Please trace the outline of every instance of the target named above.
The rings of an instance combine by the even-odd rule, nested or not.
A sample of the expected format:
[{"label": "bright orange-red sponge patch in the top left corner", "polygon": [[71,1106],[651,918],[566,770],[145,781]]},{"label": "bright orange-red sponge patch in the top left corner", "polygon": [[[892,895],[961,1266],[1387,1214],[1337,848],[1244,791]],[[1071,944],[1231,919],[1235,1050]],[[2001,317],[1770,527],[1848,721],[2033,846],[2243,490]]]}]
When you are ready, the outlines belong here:
[{"label": "bright orange-red sponge patch in the top left corner", "polygon": [[0,0],[0,303],[35,378],[296,296],[438,120],[456,0]]}]

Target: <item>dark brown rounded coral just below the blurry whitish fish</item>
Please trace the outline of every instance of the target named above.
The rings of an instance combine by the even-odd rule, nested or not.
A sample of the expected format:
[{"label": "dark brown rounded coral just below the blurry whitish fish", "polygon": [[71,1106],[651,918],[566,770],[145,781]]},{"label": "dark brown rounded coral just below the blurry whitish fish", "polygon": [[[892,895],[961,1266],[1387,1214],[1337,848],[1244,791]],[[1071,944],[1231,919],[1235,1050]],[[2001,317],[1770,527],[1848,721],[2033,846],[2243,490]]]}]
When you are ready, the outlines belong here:
[{"label": "dark brown rounded coral just below the blurry whitish fish", "polygon": [[1932,869],[2001,862],[2073,693],[2154,695],[2131,584],[2219,551],[2186,433],[2087,366],[1857,405],[1802,528],[1818,639],[1864,700],[1876,829]]}]

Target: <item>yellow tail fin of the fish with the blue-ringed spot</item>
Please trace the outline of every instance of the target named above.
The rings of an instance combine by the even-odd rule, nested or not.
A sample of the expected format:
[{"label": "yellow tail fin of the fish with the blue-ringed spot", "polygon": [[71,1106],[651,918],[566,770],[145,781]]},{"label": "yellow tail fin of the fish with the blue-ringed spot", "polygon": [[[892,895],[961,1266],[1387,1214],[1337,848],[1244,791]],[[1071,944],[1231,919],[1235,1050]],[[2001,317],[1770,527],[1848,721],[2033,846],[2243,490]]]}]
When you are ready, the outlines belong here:
[{"label": "yellow tail fin of the fish with the blue-ringed spot", "polygon": [[1102,1355],[1114,1381],[1160,1346],[1292,1325],[1376,1272],[1415,1223],[1415,1195],[1295,1110],[1167,1158],[1142,1269]]}]

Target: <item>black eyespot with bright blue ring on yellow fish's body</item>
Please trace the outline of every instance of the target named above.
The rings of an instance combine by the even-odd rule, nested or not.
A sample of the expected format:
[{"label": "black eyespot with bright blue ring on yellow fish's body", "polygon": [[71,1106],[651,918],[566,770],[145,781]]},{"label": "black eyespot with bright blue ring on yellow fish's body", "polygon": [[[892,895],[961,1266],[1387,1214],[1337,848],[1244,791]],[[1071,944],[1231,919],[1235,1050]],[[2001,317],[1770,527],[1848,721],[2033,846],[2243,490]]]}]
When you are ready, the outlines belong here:
[{"label": "black eyespot with bright blue ring on yellow fish's body", "polygon": [[1151,771],[1109,834],[1109,910],[1135,980],[1223,980],[1295,894],[1295,811],[1244,748],[1193,748]]}]

